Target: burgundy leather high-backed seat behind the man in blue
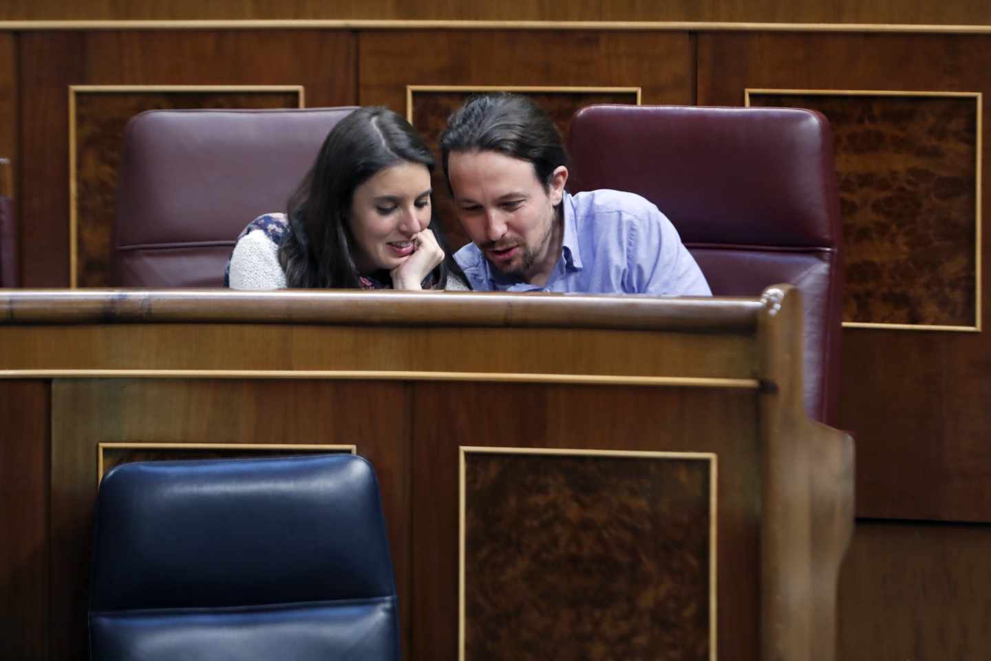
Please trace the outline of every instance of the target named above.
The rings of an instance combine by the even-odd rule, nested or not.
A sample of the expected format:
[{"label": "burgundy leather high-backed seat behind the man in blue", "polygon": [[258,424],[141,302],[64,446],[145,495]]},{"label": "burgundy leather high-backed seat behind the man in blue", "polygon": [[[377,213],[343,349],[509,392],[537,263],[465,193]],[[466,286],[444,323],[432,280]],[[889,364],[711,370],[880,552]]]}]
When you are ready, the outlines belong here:
[{"label": "burgundy leather high-backed seat behind the man in blue", "polygon": [[826,118],[791,108],[591,106],[572,120],[569,149],[568,188],[616,188],[654,202],[714,294],[798,287],[806,410],[834,423],[842,225]]}]

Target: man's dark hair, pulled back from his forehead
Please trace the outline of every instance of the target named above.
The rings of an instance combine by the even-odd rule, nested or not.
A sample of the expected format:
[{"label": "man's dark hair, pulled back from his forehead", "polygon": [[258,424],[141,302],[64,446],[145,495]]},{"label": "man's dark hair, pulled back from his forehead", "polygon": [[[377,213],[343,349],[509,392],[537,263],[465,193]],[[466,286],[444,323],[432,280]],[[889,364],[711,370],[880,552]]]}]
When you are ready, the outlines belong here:
[{"label": "man's dark hair, pulled back from his forehead", "polygon": [[440,150],[449,188],[451,152],[498,152],[527,161],[545,186],[555,169],[568,165],[568,152],[554,122],[531,99],[505,92],[472,97],[456,110],[440,136]]}]

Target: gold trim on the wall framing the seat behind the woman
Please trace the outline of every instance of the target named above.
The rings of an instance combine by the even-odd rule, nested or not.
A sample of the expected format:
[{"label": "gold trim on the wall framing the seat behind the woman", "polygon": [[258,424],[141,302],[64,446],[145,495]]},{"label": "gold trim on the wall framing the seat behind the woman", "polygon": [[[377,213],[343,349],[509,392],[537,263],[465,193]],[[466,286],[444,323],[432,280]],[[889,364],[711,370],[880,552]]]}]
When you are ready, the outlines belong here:
[{"label": "gold trim on the wall framing the seat behind the woman", "polygon": [[299,108],[306,107],[303,85],[69,85],[68,86],[68,277],[69,288],[77,288],[76,267],[79,261],[78,222],[79,190],[76,171],[76,94],[133,92],[296,92]]}]

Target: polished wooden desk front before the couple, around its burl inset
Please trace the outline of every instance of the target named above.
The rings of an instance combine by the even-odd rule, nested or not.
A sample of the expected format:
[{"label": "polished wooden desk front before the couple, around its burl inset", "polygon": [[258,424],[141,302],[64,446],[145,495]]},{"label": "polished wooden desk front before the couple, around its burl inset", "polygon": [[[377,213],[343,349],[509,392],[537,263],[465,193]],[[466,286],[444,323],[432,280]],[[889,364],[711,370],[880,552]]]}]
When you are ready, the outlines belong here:
[{"label": "polished wooden desk front before the couple, around its burl inset", "polygon": [[16,428],[35,432],[8,441],[42,442],[50,461],[49,509],[18,516],[51,523],[51,621],[5,624],[5,639],[85,656],[98,443],[302,441],[355,444],[376,466],[406,656],[453,658],[458,447],[508,445],[716,453],[720,658],[830,660],[852,450],[805,416],[801,347],[787,287],[761,300],[0,293],[0,376],[21,380],[7,382],[18,396],[44,392],[52,419],[50,433],[48,408],[18,409]]}]

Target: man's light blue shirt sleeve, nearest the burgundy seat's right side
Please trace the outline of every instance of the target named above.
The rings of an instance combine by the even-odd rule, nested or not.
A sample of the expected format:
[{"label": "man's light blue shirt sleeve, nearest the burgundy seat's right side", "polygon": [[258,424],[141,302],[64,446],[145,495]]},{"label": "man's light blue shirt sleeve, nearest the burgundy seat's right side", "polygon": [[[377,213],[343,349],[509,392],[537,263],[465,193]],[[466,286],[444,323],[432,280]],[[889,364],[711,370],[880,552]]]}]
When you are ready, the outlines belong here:
[{"label": "man's light blue shirt sleeve, nearest the burgundy seat's right side", "polygon": [[625,286],[634,293],[712,296],[709,282],[678,230],[656,206],[630,226]]}]

